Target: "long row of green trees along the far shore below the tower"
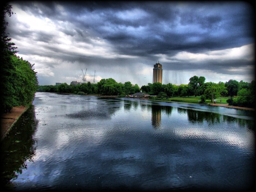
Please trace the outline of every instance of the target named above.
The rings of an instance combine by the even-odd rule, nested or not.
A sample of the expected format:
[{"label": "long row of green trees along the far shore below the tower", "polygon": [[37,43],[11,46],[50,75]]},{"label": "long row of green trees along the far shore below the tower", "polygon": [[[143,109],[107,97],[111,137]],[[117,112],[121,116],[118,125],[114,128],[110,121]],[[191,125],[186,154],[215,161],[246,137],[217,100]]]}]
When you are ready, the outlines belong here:
[{"label": "long row of green trees along the far shore below the tower", "polygon": [[[214,101],[214,99],[224,96],[230,97],[227,101],[230,105],[255,107],[255,81],[251,83],[238,82],[230,79],[228,82],[206,82],[203,76],[193,76],[189,79],[188,84],[161,84],[148,83],[141,87],[138,84],[132,85],[130,81],[117,83],[113,78],[101,79],[97,84],[90,82],[79,85],[68,85],[63,83],[60,85],[41,85],[38,86],[39,92],[59,92],[59,93],[74,93],[74,94],[102,94],[102,95],[118,95],[124,97],[136,92],[146,92],[149,95],[154,95],[156,98],[167,99],[169,97],[180,96],[201,96],[201,103],[205,100]],[[234,96],[237,96],[234,99]]]}]

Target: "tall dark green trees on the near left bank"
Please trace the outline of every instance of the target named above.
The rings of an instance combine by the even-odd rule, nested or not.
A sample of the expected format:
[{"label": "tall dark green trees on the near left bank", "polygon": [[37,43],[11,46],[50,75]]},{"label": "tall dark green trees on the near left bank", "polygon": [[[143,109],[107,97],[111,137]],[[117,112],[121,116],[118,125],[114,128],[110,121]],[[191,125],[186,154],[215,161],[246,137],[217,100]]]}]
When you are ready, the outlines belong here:
[{"label": "tall dark green trees on the near left bank", "polygon": [[8,3],[1,7],[1,107],[2,112],[10,112],[12,107],[26,106],[32,102],[37,89],[37,76],[33,66],[27,60],[16,55],[17,47],[6,33],[9,17],[14,14]]}]

